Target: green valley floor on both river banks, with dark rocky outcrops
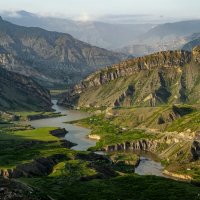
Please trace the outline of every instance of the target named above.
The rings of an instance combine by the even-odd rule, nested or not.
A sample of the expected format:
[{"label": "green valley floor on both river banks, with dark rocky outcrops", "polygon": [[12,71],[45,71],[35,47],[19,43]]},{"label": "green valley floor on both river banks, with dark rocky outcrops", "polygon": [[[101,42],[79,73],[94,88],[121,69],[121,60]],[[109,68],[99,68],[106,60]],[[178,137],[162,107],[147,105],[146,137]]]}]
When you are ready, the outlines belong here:
[{"label": "green valley floor on both river banks, with dark rocky outcrops", "polygon": [[[153,141],[160,137],[160,133],[149,134],[142,129],[132,130],[128,126],[116,125],[119,119],[112,116],[108,120],[102,113],[76,123],[89,126],[92,134],[100,136],[96,147],[91,150],[125,141]],[[197,180],[192,183],[139,176],[134,174],[134,166],[138,162],[134,154],[113,152],[104,156],[91,151],[70,150],[59,137],[50,134],[57,127],[32,129],[11,121],[2,120],[0,125],[0,169],[4,178],[10,178],[10,181],[1,179],[1,191],[4,191],[2,188],[13,191],[15,187],[12,180],[17,180],[19,184],[40,191],[38,199],[48,199],[46,195],[56,200],[199,199],[200,188],[197,186],[196,175]],[[164,164],[171,166],[169,163]],[[196,162],[194,166],[197,170]],[[26,189],[22,190],[21,196],[34,199],[30,193],[27,194]]]}]

